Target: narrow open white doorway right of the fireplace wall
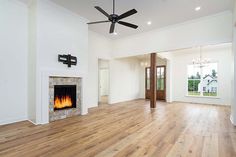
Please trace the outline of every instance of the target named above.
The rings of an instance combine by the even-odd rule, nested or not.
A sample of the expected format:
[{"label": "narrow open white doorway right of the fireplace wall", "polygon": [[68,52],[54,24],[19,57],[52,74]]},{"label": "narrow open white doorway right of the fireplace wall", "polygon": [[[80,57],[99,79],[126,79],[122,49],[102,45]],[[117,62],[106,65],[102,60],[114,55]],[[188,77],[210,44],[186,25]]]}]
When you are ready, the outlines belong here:
[{"label": "narrow open white doorway right of the fireplace wall", "polygon": [[98,72],[98,104],[108,104],[109,102],[109,61],[99,59]]}]

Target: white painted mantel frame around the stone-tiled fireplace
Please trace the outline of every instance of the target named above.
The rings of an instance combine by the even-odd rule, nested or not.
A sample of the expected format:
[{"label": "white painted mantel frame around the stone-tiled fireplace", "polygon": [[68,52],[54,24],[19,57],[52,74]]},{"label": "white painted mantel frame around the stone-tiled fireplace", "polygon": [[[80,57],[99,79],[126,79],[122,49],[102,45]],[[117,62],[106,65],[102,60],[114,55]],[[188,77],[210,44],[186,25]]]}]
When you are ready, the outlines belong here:
[{"label": "white painted mantel frame around the stone-tiled fireplace", "polygon": [[84,74],[78,73],[75,70],[53,70],[53,71],[41,71],[40,84],[37,86],[38,95],[36,103],[36,123],[34,124],[47,124],[49,123],[49,81],[51,77],[62,77],[62,78],[80,78],[81,85],[81,102],[80,102],[80,114],[86,115],[88,113],[88,108],[85,105],[84,95]]}]

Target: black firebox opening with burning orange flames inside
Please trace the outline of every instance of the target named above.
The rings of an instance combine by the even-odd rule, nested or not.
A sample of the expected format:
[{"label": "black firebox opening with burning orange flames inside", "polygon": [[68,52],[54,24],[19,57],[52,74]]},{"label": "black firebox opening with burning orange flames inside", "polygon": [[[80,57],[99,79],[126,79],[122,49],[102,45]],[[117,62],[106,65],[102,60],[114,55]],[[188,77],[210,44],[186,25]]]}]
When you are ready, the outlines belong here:
[{"label": "black firebox opening with burning orange flames inside", "polygon": [[76,85],[54,86],[54,111],[76,108]]}]

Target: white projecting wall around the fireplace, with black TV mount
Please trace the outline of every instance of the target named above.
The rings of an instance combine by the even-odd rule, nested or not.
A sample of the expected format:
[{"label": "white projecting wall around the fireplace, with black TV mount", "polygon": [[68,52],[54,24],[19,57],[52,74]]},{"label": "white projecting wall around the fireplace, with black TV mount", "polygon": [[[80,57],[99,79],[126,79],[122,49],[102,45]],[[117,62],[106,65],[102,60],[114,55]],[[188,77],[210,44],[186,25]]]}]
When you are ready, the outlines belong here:
[{"label": "white projecting wall around the fireplace, with black TV mount", "polygon": [[[36,19],[31,24],[33,31],[30,40],[35,40],[35,50],[30,58],[36,58],[36,100],[29,106],[36,104],[36,113],[30,120],[47,123],[48,118],[48,76],[57,73],[58,76],[82,77],[82,114],[87,112],[89,96],[86,92],[88,74],[88,26],[87,20],[74,14],[49,0],[37,0],[31,3],[35,8]],[[32,22],[32,21],[30,21]],[[30,52],[31,53],[31,52]],[[67,65],[58,62],[58,54],[71,54],[77,57],[76,66],[68,68]],[[34,58],[35,57],[35,58]],[[34,65],[35,66],[35,65]],[[34,75],[34,73],[32,73]],[[48,79],[47,76],[47,79]],[[34,76],[29,76],[29,79]],[[45,83],[46,82],[46,83]],[[29,107],[29,109],[34,109]],[[29,111],[31,112],[31,111]],[[47,114],[46,114],[47,113]],[[36,119],[36,120],[35,120]]]}]

